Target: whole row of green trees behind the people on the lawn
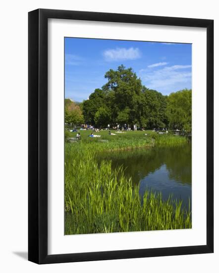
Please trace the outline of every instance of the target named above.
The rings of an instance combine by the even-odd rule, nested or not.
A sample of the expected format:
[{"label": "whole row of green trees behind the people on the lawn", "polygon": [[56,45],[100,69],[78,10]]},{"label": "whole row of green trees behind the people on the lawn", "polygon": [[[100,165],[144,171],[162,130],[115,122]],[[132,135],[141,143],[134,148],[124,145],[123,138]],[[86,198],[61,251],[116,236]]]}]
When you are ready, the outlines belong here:
[{"label": "whole row of green trees behind the people on the lawn", "polygon": [[132,68],[110,69],[108,82],[82,103],[65,99],[65,122],[96,127],[119,124],[139,128],[170,128],[191,132],[192,91],[183,89],[168,96],[145,87]]}]

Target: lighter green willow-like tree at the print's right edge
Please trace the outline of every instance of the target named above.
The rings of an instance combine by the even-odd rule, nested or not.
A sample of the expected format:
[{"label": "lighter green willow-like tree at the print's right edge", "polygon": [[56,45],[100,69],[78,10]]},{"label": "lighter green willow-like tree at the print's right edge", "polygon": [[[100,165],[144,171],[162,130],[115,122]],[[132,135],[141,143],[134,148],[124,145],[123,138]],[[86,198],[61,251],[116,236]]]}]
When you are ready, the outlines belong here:
[{"label": "lighter green willow-like tree at the print's right edge", "polygon": [[192,130],[192,90],[171,93],[167,99],[166,114],[172,129]]}]

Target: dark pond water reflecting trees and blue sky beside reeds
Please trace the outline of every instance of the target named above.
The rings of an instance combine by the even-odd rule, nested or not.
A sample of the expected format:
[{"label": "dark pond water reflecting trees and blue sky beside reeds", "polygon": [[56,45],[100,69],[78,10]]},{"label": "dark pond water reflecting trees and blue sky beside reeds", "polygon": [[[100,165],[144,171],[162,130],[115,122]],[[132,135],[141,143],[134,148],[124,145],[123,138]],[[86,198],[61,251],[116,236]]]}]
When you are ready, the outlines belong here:
[{"label": "dark pond water reflecting trees and blue sky beside reeds", "polygon": [[99,160],[111,160],[112,168],[123,165],[125,175],[139,183],[139,194],[146,189],[162,192],[163,200],[170,194],[191,204],[192,156],[191,143],[176,147],[153,147],[129,151],[116,151],[99,155]]}]

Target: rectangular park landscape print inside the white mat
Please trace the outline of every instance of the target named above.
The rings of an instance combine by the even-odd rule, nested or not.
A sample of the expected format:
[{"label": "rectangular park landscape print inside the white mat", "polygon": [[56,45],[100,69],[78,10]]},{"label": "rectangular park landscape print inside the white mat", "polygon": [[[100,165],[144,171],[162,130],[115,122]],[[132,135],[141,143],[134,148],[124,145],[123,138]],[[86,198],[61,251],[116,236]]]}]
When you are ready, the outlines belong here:
[{"label": "rectangular park landscape print inside the white mat", "polygon": [[64,234],[192,228],[192,44],[64,37]]}]

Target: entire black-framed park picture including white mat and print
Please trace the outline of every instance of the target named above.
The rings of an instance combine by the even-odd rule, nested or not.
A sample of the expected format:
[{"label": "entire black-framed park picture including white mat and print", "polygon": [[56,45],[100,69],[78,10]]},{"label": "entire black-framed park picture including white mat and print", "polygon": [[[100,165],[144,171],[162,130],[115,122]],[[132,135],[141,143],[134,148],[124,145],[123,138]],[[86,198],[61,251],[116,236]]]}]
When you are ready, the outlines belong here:
[{"label": "entire black-framed park picture including white mat and print", "polygon": [[28,260],[213,253],[213,20],[28,18]]}]

